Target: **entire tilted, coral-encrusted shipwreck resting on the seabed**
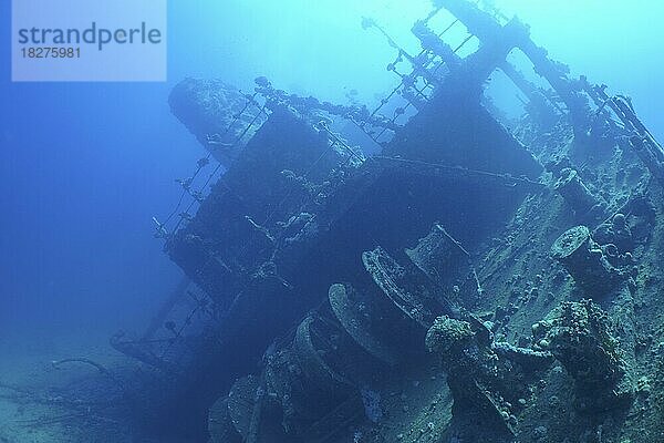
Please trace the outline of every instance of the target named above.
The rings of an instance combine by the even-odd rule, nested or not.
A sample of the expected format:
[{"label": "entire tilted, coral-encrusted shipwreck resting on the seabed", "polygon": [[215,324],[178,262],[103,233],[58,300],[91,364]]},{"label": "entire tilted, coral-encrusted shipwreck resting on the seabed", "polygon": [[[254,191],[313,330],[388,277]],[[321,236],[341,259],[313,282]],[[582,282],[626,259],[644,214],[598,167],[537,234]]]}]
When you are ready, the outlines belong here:
[{"label": "entire tilted, coral-encrusted shipwreck resting on the seabed", "polygon": [[[662,146],[517,18],[434,3],[419,53],[363,21],[400,80],[373,110],[266,78],[175,87],[209,155],[155,218],[187,278],[143,333],[112,339],[144,368],[137,432],[660,441]],[[495,75],[522,116],[492,100]]]}]

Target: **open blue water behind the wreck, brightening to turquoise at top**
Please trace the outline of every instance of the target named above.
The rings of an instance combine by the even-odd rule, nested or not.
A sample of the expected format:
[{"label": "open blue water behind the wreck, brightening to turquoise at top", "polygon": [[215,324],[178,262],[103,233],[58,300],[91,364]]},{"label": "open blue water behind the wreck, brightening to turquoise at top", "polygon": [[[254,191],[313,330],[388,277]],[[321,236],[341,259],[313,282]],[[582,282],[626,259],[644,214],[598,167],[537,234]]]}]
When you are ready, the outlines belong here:
[{"label": "open blue water behind the wreck, brightening to turquoise at top", "polygon": [[[376,18],[412,48],[427,1],[169,2],[167,83],[11,83],[9,1],[0,3],[0,340],[141,329],[180,278],[153,238],[175,205],[175,178],[204,150],[169,113],[187,75],[241,87],[267,75],[292,92],[374,103],[394,52],[363,31]],[[361,3],[361,4],[357,4]],[[664,68],[664,3],[505,0],[535,40],[575,74],[630,93],[653,133]]]}]

